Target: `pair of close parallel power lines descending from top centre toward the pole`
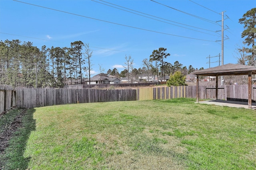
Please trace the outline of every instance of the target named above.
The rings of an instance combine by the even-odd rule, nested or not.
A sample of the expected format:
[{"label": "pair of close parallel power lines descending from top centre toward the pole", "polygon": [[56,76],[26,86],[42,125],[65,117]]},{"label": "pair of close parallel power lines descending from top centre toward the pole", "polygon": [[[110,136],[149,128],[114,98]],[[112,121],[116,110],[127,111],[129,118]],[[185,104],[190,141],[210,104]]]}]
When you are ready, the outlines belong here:
[{"label": "pair of close parallel power lines descending from top centre toward the pole", "polygon": [[[97,1],[95,1],[95,0],[92,0],[92,1],[97,2]],[[100,1],[105,2],[105,3],[108,3],[108,4],[112,4],[112,3],[110,3],[110,2],[106,2],[106,1],[103,1],[103,0],[100,0]],[[97,2],[97,3],[103,4],[103,5],[106,5],[106,6],[110,6],[110,5],[101,3],[101,2]],[[164,19],[164,18],[160,18],[160,17],[157,17],[157,16],[153,16],[153,15],[150,15],[150,14],[146,14],[146,13],[143,13],[143,12],[139,12],[139,11],[136,11],[136,10],[132,10],[132,9],[130,9],[130,8],[126,8],[126,7],[123,7],[123,6],[116,5],[116,4],[112,4],[112,5],[118,6],[118,7],[124,8],[124,9],[128,9],[128,10],[131,10],[131,11],[134,11],[134,12],[138,12],[138,13],[140,13],[140,14],[144,14],[144,15],[147,15],[147,16],[152,16],[152,17],[154,17],[154,18],[159,18],[159,19],[161,19],[161,20],[166,20],[166,19]],[[116,8],[116,7],[114,7],[114,6],[110,6],[110,7]],[[123,9],[120,9],[120,8],[116,8],[116,9],[123,10]],[[130,11],[127,11],[127,10],[123,10],[123,11],[130,12]],[[136,13],[134,13],[134,12],[130,12],[130,13],[136,14]],[[136,14],[136,15],[143,16],[143,15],[140,15],[140,14]],[[143,17],[150,18],[150,17],[147,17],[147,16],[143,16]],[[164,22],[164,23],[168,23],[168,22],[161,21],[161,20],[157,20],[157,19],[154,19],[154,18],[150,18],[150,19],[156,20],[156,21],[160,21],[160,22]],[[166,20],[166,21],[178,23],[178,24],[181,24],[181,25],[186,25],[186,26],[188,26],[188,27],[194,27],[194,26],[191,26],[191,25],[187,25],[187,24],[183,24],[183,23],[179,23],[179,22],[175,22],[175,21],[171,21],[171,20]],[[172,24],[172,23],[168,23],[168,24],[175,25],[175,24]],[[180,25],[175,25],[175,26],[182,27],[182,26],[180,26]],[[187,27],[182,27],[182,28],[190,29],[190,28],[187,28]],[[200,28],[200,27],[194,27],[194,28],[202,29],[202,30],[206,30],[206,31],[211,31],[211,32],[215,32],[215,31],[212,31],[212,30],[209,30],[209,29],[203,29],[203,28]],[[190,30],[198,31],[198,30],[194,30],[194,29],[190,29]],[[198,31],[198,32],[205,33],[205,32],[202,32],[202,31]],[[206,33],[206,34],[209,34],[209,33]],[[213,34],[209,34],[209,35],[213,35]],[[216,35],[214,35],[214,36],[216,36]]]}]

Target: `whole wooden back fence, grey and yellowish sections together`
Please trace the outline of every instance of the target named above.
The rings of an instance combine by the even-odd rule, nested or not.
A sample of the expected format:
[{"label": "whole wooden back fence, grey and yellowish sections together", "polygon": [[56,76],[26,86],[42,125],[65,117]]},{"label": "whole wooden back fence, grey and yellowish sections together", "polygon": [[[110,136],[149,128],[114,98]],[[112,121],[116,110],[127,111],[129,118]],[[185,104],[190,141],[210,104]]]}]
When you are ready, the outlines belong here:
[{"label": "whole wooden back fence, grey and yellowish sections together", "polygon": [[[200,99],[214,99],[214,86],[199,86]],[[248,99],[247,85],[225,85],[218,89],[218,99]],[[3,93],[3,92],[2,92]],[[6,94],[8,91],[6,91]],[[15,95],[8,93],[8,97]],[[0,94],[1,96],[1,94]],[[92,103],[92,102],[113,102],[132,100],[156,100],[172,98],[196,98],[196,86],[175,86],[175,87],[148,87],[120,90],[101,89],[28,89],[17,88],[16,100],[13,104],[6,101],[7,106],[17,106],[18,108],[33,108],[43,106],[53,106],[60,104]],[[252,100],[256,100],[256,85],[252,88]],[[1,100],[2,101],[2,100]],[[11,101],[11,100],[8,100]],[[16,102],[14,102],[16,101]],[[1,104],[1,102],[0,102]],[[6,108],[8,108],[6,107]],[[1,106],[0,106],[1,108]]]}]

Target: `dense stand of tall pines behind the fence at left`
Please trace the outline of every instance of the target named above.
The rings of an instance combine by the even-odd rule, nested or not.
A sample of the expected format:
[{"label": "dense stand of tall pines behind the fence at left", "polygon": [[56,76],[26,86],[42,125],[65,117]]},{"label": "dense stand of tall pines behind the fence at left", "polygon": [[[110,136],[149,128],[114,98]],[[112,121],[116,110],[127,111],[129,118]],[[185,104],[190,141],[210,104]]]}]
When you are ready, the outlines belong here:
[{"label": "dense stand of tall pines behind the fence at left", "polygon": [[[85,48],[82,51],[83,47]],[[82,71],[92,70],[89,44],[82,41],[70,43],[70,47],[42,46],[19,40],[0,41],[0,84],[27,88],[61,88],[70,78],[82,83]],[[84,64],[87,63],[87,66]],[[74,82],[73,82],[74,84]]]}]

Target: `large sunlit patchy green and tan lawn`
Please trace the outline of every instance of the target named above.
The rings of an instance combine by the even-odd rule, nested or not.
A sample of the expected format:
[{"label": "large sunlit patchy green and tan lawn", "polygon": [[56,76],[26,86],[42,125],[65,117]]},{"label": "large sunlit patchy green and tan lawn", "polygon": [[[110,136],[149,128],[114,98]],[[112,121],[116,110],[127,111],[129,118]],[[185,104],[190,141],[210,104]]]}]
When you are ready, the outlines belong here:
[{"label": "large sunlit patchy green and tan lawn", "polygon": [[256,112],[194,99],[36,108],[31,170],[256,169]]}]

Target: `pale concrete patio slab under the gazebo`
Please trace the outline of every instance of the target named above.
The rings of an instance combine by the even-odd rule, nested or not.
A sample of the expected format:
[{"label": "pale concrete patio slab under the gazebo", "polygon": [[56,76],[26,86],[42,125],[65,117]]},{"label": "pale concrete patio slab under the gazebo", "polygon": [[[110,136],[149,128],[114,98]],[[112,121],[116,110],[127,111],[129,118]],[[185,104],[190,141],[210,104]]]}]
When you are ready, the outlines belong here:
[{"label": "pale concrete patio slab under the gazebo", "polygon": [[[199,102],[200,104],[214,104],[218,106],[228,106],[228,107],[244,107],[248,109],[248,102],[236,102],[227,100],[206,100]],[[252,109],[256,109],[256,103],[252,103]]]}]

